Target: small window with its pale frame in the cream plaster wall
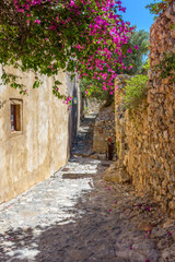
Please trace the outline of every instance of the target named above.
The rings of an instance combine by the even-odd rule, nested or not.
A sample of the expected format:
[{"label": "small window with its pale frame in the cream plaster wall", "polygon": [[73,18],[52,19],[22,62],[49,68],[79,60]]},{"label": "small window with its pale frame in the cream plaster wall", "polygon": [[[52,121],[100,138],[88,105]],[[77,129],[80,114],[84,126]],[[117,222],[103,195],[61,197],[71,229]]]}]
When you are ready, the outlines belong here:
[{"label": "small window with its pale frame in the cream plaster wall", "polygon": [[10,99],[11,133],[22,131],[22,100]]}]

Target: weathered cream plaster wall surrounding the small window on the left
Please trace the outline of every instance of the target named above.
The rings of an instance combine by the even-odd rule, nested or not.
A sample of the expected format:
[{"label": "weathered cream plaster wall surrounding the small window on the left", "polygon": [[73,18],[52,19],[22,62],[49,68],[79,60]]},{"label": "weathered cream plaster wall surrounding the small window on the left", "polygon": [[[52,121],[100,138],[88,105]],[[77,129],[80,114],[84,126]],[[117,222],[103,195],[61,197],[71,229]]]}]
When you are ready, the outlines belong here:
[{"label": "weathered cream plaster wall surrounding the small window on the left", "polygon": [[[14,72],[14,70],[11,70]],[[15,71],[16,72],[16,71]],[[66,74],[59,73],[62,93]],[[34,74],[23,75],[28,96],[0,86],[0,202],[48,178],[67,162],[68,108],[52,95],[51,78],[33,90]],[[11,132],[10,98],[22,99],[22,132]]]}]

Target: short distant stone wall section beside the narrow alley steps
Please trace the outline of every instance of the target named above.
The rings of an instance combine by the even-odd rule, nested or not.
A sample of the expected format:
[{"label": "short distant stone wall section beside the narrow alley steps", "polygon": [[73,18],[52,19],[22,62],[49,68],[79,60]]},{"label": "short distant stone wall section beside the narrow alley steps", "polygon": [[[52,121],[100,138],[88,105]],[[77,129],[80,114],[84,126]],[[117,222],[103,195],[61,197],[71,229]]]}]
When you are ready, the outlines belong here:
[{"label": "short distant stone wall section beside the narrow alley steps", "polygon": [[108,138],[112,138],[115,144],[116,131],[114,107],[102,108],[98,112],[94,127],[93,151],[95,153],[106,154]]}]

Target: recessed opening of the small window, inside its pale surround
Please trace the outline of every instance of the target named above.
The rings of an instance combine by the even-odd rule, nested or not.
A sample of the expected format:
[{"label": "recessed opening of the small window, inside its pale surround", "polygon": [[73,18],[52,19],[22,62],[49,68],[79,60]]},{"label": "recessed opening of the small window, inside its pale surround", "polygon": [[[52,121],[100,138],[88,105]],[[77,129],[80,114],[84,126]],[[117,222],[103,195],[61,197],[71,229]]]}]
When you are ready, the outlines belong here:
[{"label": "recessed opening of the small window, inside its pale surround", "polygon": [[11,131],[21,131],[21,105],[11,104]]}]

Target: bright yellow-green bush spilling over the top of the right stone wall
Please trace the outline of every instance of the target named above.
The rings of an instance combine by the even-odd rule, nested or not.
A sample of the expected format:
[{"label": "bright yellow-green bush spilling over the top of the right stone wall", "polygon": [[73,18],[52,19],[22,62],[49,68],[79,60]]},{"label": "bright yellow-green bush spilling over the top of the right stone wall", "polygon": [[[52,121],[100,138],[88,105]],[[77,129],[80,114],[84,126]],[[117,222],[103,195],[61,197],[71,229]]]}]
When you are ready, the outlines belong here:
[{"label": "bright yellow-green bush spilling over the top of the right stone wall", "polygon": [[136,109],[147,96],[148,75],[136,75],[127,81],[125,87],[125,106],[128,109]]}]

